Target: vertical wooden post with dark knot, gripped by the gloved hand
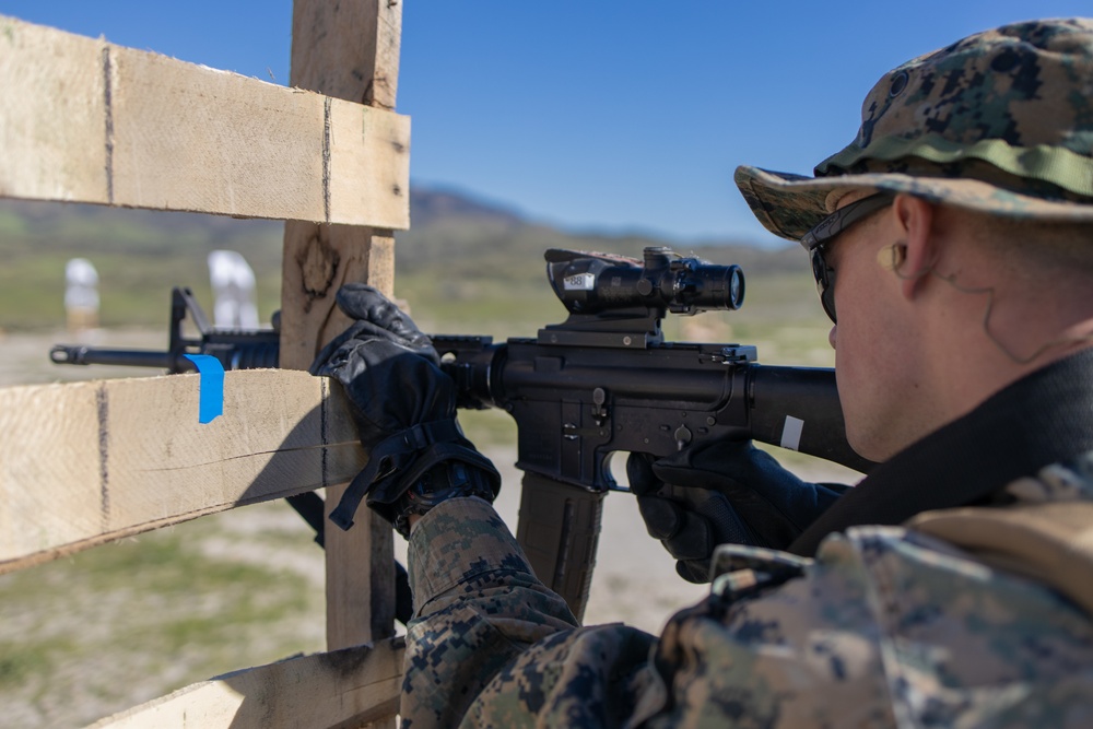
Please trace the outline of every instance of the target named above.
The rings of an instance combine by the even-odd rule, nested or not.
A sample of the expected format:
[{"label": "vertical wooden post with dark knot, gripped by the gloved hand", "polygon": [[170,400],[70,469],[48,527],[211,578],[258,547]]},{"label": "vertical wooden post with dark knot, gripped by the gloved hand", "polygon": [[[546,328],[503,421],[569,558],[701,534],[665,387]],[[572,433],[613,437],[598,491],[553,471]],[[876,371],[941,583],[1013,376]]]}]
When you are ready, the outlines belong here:
[{"label": "vertical wooden post with dark knot, gripped by the gloved hand", "polygon": [[[295,0],[292,15],[293,86],[395,108],[400,0]],[[319,348],[349,325],[334,305],[334,293],[343,283],[365,281],[390,295],[393,246],[390,231],[285,224],[282,367],[306,369]],[[342,491],[342,486],[327,489],[328,512],[338,504]],[[391,533],[387,522],[363,506],[352,530],[343,532],[332,525],[326,530],[330,650],[393,635]]]}]

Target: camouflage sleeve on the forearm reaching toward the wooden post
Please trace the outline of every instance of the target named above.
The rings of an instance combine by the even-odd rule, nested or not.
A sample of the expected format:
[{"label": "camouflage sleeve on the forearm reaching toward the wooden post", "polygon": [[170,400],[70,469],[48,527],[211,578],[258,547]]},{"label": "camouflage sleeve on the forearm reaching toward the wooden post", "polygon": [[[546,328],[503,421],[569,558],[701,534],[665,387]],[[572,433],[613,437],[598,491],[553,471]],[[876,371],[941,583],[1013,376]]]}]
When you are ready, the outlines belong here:
[{"label": "camouflage sleeve on the forearm reaching toward the wooden post", "polygon": [[578,628],[485,502],[431,510],[411,534],[409,563],[419,607],[403,727],[621,726],[650,695],[654,637],[618,624]]}]

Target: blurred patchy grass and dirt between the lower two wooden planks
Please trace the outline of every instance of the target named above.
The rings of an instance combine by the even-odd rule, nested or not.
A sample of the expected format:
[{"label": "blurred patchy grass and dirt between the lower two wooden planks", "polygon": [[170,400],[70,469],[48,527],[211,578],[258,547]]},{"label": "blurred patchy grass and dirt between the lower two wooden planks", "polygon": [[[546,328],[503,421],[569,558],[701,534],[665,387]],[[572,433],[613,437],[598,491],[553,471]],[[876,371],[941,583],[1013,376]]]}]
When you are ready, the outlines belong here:
[{"label": "blurred patchy grass and dirt between the lower two wooden planks", "polygon": [[10,727],[77,727],[324,646],[322,555],[263,504],[0,577]]}]

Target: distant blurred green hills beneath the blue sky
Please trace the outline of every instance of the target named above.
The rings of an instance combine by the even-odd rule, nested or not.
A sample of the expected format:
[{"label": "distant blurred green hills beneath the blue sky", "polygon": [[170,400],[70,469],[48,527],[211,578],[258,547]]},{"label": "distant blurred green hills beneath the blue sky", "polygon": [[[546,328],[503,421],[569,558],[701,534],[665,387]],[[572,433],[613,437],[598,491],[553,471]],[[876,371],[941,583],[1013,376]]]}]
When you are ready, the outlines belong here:
[{"label": "distant blurred green hills beneath the blue sky", "polygon": [[[568,233],[450,189],[411,188],[410,216],[411,230],[396,234],[399,285],[458,289],[465,299],[484,297],[487,290],[504,299],[505,286],[514,295],[528,285],[544,287],[546,248],[637,257],[645,246],[668,245],[691,252],[663,239]],[[0,200],[0,328],[63,322],[63,268],[75,256],[98,269],[104,325],[164,324],[172,285],[211,298],[205,257],[218,248],[246,257],[258,280],[260,314],[268,318],[280,298],[282,228],[278,221]],[[707,246],[694,252],[752,274],[803,266],[791,248]]]}]

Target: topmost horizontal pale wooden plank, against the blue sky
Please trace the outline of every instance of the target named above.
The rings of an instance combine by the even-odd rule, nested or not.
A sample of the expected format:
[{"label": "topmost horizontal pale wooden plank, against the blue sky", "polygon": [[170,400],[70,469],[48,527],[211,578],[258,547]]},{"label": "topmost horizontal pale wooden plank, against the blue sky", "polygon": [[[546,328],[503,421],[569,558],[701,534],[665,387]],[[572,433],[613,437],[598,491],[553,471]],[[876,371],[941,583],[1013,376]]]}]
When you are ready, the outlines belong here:
[{"label": "topmost horizontal pale wooden plank, against the blue sky", "polygon": [[0,197],[404,230],[410,120],[0,16]]}]

